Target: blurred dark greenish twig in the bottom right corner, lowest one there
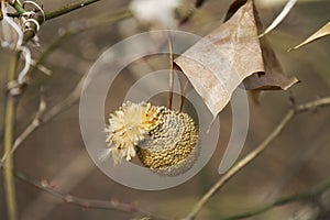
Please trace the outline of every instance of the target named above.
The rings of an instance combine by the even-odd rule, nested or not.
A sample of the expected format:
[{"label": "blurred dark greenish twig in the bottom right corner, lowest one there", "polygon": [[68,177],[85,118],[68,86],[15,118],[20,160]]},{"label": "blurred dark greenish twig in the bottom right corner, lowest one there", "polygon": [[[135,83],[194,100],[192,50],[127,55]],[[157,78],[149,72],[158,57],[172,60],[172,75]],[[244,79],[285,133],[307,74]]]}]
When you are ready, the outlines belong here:
[{"label": "blurred dark greenish twig in the bottom right corner, lowest one there", "polygon": [[309,189],[308,191],[279,198],[279,199],[273,201],[272,204],[261,206],[261,207],[258,207],[254,210],[251,210],[251,211],[248,211],[248,212],[244,212],[244,213],[240,213],[240,215],[235,215],[235,216],[232,216],[232,217],[224,218],[223,220],[238,220],[238,219],[254,217],[254,216],[261,215],[263,212],[266,212],[271,209],[274,209],[276,207],[284,206],[284,205],[292,204],[292,202],[296,202],[296,201],[301,201],[301,200],[307,200],[307,201],[311,200],[311,201],[314,201],[315,198],[318,198],[321,194],[327,191],[329,188],[330,188],[330,179],[327,179],[323,183],[321,183],[320,185]]}]

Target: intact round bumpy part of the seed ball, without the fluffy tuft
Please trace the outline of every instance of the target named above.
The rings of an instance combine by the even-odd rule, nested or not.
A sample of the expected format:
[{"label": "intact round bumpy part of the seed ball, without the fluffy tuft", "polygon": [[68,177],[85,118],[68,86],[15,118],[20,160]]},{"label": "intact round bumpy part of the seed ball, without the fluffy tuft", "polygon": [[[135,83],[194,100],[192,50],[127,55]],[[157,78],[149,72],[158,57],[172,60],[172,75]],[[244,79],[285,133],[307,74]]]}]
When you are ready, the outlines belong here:
[{"label": "intact round bumpy part of the seed ball, without the fluffy tuft", "polygon": [[138,144],[138,156],[158,174],[178,175],[189,169],[198,156],[198,130],[187,113],[161,108],[157,123]]}]

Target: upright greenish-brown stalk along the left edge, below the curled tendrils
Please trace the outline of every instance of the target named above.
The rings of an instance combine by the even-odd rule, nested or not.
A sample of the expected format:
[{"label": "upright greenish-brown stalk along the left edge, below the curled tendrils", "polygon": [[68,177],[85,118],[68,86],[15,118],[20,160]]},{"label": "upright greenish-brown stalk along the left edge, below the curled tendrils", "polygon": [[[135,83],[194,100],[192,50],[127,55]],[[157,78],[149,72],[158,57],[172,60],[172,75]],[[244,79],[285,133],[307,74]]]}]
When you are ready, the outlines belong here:
[{"label": "upright greenish-brown stalk along the left edge, below the curled tendrils", "polygon": [[[19,64],[20,53],[13,57],[11,69],[8,74],[8,81],[15,79],[16,68]],[[13,175],[13,156],[10,154],[13,144],[13,131],[15,120],[16,100],[10,92],[7,96],[6,112],[4,112],[4,135],[3,135],[3,150],[4,154],[8,154],[7,161],[3,167],[3,180],[4,191],[7,201],[8,218],[10,220],[18,219],[18,207],[16,207],[16,194],[14,186]]]}]

